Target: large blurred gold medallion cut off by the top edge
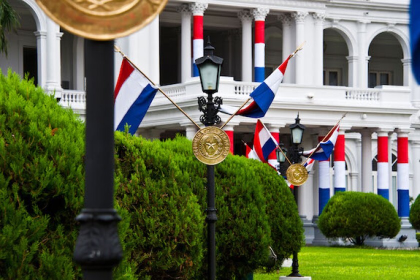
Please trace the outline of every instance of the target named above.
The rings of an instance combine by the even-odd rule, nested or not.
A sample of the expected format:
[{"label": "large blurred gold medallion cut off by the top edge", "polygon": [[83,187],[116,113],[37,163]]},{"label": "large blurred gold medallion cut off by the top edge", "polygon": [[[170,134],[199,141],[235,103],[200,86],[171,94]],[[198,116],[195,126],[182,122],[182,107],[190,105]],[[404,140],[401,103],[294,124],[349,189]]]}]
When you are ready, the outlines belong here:
[{"label": "large blurred gold medallion cut off by the top edge", "polygon": [[149,23],[167,0],[36,0],[42,10],[69,32],[111,40]]}]

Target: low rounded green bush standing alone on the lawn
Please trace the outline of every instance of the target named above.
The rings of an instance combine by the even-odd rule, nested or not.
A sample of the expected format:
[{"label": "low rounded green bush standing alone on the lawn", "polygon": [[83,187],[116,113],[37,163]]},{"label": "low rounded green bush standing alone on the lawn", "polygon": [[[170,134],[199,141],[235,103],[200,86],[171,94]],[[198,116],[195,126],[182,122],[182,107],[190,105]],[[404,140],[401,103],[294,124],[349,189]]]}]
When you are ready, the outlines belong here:
[{"label": "low rounded green bush standing alone on the lawn", "polygon": [[325,237],[347,237],[361,245],[367,236],[394,237],[401,224],[395,208],[382,196],[343,191],[326,203],[318,226]]}]

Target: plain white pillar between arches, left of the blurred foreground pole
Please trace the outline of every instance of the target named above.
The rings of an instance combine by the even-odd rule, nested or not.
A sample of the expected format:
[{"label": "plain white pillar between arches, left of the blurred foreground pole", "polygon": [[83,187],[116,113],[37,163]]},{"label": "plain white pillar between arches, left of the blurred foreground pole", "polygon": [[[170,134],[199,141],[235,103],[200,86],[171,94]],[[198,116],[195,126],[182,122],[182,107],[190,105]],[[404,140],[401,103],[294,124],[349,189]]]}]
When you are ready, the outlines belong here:
[{"label": "plain white pillar between arches, left of the blurred foreground pole", "polygon": [[60,40],[62,33],[60,26],[46,18],[46,82],[45,89],[53,93],[55,97],[61,97],[61,51]]}]

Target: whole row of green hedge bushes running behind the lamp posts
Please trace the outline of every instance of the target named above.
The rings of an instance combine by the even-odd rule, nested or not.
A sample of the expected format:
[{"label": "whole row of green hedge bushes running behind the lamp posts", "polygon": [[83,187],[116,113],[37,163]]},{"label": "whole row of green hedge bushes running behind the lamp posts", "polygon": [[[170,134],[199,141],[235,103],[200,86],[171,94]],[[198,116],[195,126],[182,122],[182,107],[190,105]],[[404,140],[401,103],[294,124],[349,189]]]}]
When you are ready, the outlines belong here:
[{"label": "whole row of green hedge bushes running behind the lamp posts", "polygon": [[[0,278],[81,279],[72,252],[83,206],[84,124],[32,81],[0,75]],[[215,166],[219,279],[240,279],[302,244],[284,180],[229,155]],[[115,133],[115,208],[124,258],[114,279],[202,279],[206,166],[184,137]]]}]

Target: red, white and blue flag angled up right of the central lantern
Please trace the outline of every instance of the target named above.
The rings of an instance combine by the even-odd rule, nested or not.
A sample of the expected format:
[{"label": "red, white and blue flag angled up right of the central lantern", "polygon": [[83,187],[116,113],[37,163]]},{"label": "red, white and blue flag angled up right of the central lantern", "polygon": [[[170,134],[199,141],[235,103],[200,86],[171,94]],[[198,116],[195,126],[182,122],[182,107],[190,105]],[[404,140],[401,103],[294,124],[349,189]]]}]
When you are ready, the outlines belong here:
[{"label": "red, white and blue flag angled up right of the central lantern", "polygon": [[[249,96],[252,97],[252,102],[245,108],[240,109],[236,114],[248,117],[263,117],[265,115],[277,93],[290,57],[292,55],[289,55],[280,66],[251,92]],[[234,114],[236,110],[237,108],[235,107],[221,105],[219,111]]]}]

